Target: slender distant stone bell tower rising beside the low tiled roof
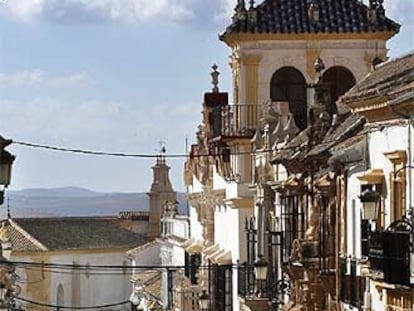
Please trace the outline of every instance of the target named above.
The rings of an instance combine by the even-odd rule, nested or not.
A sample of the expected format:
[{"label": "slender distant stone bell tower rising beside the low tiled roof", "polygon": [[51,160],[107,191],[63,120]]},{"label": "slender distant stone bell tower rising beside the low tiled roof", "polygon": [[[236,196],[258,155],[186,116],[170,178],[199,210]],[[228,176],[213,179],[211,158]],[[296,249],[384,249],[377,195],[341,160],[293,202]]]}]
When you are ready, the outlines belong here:
[{"label": "slender distant stone bell tower rising beside the low tiled roof", "polygon": [[161,150],[157,156],[153,170],[153,181],[151,190],[148,193],[150,198],[148,238],[155,239],[161,235],[161,223],[164,206],[167,202],[176,202],[177,194],[172,188],[169,170],[170,167],[165,161],[165,146],[161,145]]}]

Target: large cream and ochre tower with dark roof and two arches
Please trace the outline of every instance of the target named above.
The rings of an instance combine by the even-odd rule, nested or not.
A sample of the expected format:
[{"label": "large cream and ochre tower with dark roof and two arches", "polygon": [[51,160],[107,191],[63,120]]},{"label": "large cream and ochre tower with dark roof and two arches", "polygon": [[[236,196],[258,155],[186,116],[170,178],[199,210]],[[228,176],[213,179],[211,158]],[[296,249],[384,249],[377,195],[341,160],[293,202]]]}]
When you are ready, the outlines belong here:
[{"label": "large cream and ochre tower with dark roof and two arches", "polygon": [[233,102],[288,102],[301,130],[308,123],[315,60],[326,65],[322,78],[335,101],[387,59],[387,40],[400,27],[385,15],[383,0],[368,6],[360,0],[246,2],[237,1],[232,23],[220,36],[231,48]]}]

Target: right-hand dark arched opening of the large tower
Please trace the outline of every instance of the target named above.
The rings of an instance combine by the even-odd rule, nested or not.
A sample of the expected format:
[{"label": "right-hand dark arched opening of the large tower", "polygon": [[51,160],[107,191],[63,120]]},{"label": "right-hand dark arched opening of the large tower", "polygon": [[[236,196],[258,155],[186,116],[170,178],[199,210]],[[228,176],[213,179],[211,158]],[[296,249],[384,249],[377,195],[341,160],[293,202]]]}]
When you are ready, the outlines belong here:
[{"label": "right-hand dark arched opening of the large tower", "polygon": [[328,85],[332,103],[335,103],[339,96],[345,94],[355,85],[356,80],[352,72],[347,68],[334,66],[323,73],[322,82]]}]

